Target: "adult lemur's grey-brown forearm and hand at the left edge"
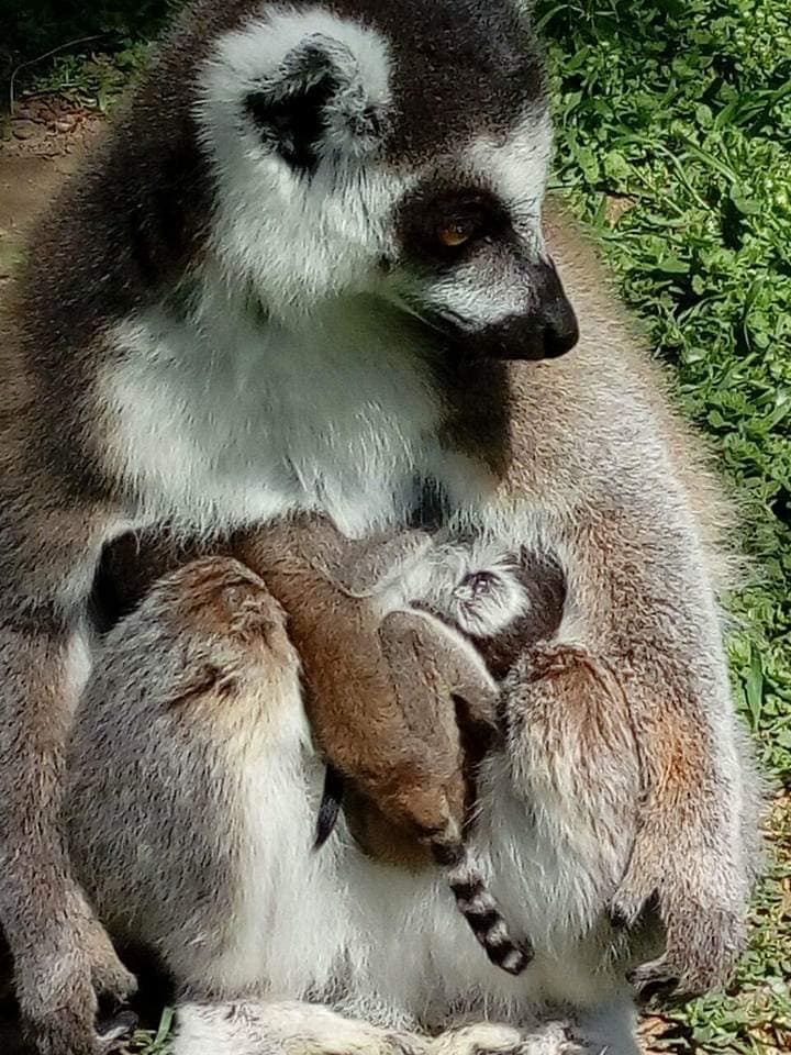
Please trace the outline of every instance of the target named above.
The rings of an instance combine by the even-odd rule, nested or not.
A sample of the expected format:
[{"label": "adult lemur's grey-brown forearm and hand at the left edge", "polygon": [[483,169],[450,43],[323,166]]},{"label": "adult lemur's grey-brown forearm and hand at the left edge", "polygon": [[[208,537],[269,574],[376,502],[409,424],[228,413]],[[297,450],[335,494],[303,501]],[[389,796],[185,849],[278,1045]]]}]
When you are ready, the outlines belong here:
[{"label": "adult lemur's grey-brown forearm and hand at the left edge", "polygon": [[88,596],[110,519],[69,502],[55,482],[13,485],[7,471],[0,482],[0,922],[22,1014],[47,1051],[92,1055],[97,997],[123,1000],[134,979],[73,878],[57,817],[65,737],[88,674]]}]

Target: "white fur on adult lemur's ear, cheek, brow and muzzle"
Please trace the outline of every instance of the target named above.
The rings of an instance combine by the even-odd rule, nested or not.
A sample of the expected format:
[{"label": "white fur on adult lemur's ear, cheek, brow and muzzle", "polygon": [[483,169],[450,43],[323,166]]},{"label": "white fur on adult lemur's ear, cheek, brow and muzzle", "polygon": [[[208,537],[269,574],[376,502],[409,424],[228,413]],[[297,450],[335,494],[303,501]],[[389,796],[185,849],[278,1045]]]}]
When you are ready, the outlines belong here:
[{"label": "white fur on adult lemur's ear, cheek, brow and muzzle", "polygon": [[[305,47],[326,55],[341,82],[310,178],[261,137],[245,106],[261,88],[287,86],[290,64]],[[201,71],[197,107],[218,181],[214,255],[226,281],[246,284],[287,323],[326,298],[376,291],[400,301],[405,290],[427,308],[453,313],[461,329],[497,325],[530,303],[525,269],[506,254],[497,255],[494,267],[474,260],[420,279],[417,289],[398,267],[390,280],[379,271],[382,257],[393,256],[399,201],[436,160],[397,173],[377,157],[375,137],[350,131],[371,112],[387,122],[391,68],[388,42],[376,30],[315,8],[274,11],[220,41]],[[505,142],[482,135],[453,159],[503,201],[525,262],[543,252],[539,211],[550,147],[548,111],[536,104]]]}]

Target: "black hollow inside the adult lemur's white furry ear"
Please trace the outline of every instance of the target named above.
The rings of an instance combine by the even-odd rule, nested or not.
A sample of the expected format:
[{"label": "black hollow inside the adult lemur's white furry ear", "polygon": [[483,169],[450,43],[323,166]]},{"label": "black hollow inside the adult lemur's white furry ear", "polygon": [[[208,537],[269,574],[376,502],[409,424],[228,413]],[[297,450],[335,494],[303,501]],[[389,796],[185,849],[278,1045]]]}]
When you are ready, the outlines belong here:
[{"label": "black hollow inside the adult lemur's white furry ear", "polygon": [[319,164],[319,145],[326,130],[326,106],[338,90],[327,70],[313,84],[282,97],[256,91],[245,106],[261,136],[275,145],[291,168],[312,175]]}]

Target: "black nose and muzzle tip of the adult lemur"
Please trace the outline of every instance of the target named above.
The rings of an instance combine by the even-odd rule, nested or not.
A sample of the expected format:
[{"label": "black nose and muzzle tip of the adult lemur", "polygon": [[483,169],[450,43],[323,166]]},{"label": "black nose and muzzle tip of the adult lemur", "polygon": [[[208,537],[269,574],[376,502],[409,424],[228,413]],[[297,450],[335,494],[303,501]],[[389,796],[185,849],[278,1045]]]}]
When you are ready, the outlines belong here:
[{"label": "black nose and muzzle tip of the adult lemur", "polygon": [[498,359],[555,359],[579,340],[573,308],[552,262],[531,268],[531,308],[472,335],[475,351]]}]

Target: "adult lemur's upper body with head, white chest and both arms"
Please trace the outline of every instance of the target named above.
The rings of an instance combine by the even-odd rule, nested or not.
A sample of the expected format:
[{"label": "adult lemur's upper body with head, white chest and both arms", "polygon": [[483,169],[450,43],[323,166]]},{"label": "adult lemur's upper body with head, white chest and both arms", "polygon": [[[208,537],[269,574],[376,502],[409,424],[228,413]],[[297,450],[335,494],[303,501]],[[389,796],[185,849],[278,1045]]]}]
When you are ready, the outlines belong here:
[{"label": "adult lemur's upper body with head, white chest and both arms", "polygon": [[588,691],[573,644],[619,671],[647,784],[613,900],[631,919],[657,892],[648,974],[733,962],[749,869],[711,489],[594,293],[572,356],[503,360],[577,336],[521,7],[198,3],[38,227],[0,349],[0,920],[43,1052],[94,1052],[97,992],[132,986],[56,821],[103,544],[298,508],[359,535],[426,482],[452,528],[565,563],[573,618],[522,660],[536,706]]}]

